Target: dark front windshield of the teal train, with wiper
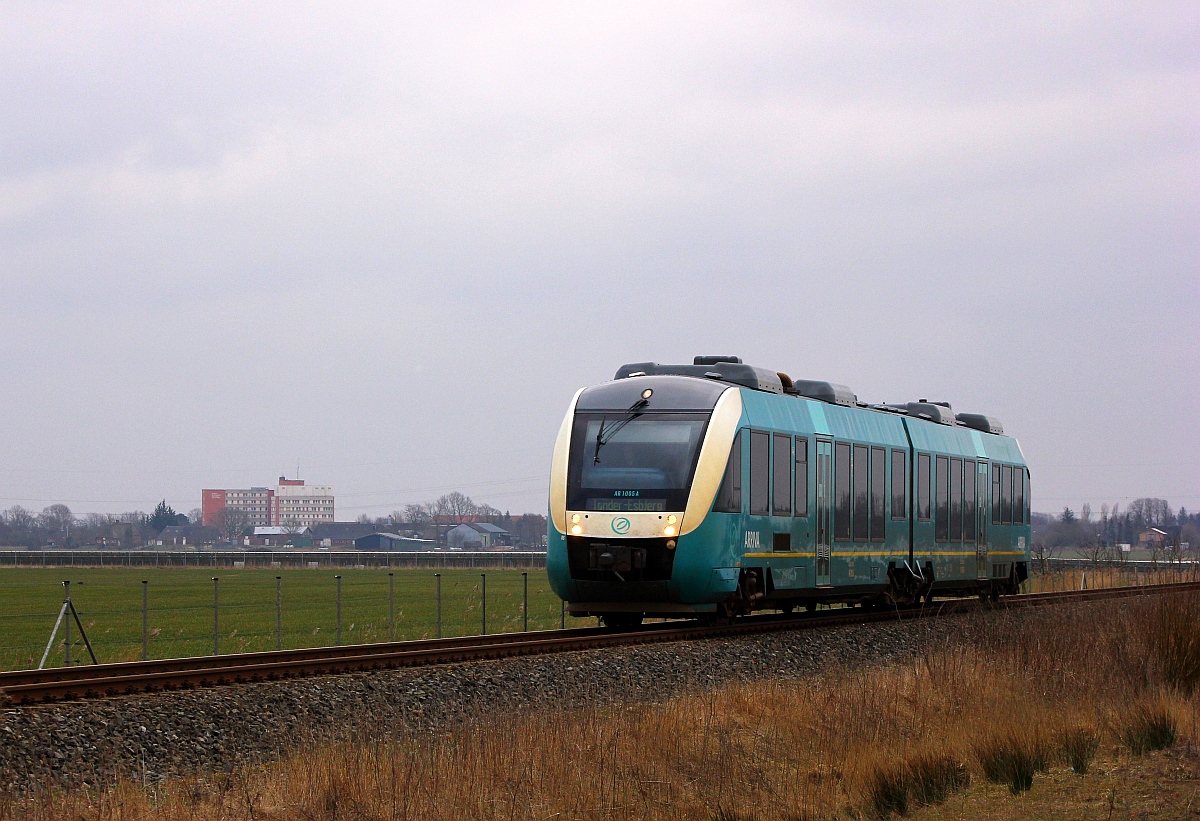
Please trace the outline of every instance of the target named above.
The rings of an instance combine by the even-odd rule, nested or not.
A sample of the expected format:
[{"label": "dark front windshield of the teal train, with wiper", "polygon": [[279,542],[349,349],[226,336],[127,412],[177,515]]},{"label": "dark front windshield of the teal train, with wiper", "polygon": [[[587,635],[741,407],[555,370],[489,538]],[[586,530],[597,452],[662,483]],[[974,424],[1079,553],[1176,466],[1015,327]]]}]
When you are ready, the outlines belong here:
[{"label": "dark front windshield of the teal train, with wiper", "polygon": [[708,414],[578,413],[571,432],[571,510],[683,510]]}]

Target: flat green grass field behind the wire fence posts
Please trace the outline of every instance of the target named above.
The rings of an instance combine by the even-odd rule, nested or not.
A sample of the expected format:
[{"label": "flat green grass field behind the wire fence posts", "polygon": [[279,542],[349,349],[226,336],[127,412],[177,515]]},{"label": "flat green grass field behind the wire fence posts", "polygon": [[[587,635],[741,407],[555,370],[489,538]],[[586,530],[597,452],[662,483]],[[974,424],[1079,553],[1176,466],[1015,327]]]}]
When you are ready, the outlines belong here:
[{"label": "flat green grass field behind the wire fence posts", "polygon": [[[388,640],[388,571],[340,569],[342,643]],[[437,635],[433,570],[395,573],[397,640]],[[479,634],[479,570],[440,570],[442,635]],[[520,570],[488,570],[487,631],[522,628]],[[559,599],[545,570],[529,570],[529,629],[558,628]],[[335,643],[337,581],[328,569],[229,569],[214,574],[185,568],[4,568],[0,569],[0,669],[36,667],[62,605],[62,580],[101,661],[142,658],[142,580],[149,582],[149,655],[179,658],[212,652],[212,581],[220,577],[218,635],[222,653],[275,649],[275,577],[283,586],[283,647]],[[566,625],[592,625],[572,619]],[[72,661],[88,660],[72,628]],[[46,666],[61,666],[62,630]]]}]

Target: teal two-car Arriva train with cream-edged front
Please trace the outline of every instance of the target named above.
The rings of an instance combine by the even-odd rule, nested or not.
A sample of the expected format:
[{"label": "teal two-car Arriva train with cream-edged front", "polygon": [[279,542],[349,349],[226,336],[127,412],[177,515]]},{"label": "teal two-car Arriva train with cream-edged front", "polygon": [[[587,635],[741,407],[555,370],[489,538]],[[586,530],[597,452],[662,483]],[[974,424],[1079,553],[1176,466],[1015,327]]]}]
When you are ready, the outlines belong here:
[{"label": "teal two-car Arriva train with cream-edged front", "polygon": [[995,599],[1028,576],[1030,471],[1000,420],[947,402],[634,362],[571,398],[547,531],[554,593],[614,628]]}]

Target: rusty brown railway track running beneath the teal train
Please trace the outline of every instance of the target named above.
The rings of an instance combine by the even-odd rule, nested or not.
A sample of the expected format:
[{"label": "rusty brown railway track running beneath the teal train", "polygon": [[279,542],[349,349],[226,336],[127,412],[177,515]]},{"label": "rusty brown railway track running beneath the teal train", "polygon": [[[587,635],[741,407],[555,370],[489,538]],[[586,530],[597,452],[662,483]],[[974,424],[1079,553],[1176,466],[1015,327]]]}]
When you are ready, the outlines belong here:
[{"label": "rusty brown railway track running beneath the teal train", "polygon": [[59,700],[96,699],[154,690],[270,682],[304,676],[414,667],[514,655],[562,653],[622,645],[715,639],[779,630],[805,630],[842,624],[930,618],[947,612],[965,612],[992,606],[1033,607],[1069,601],[1094,601],[1184,591],[1200,591],[1200,582],[1110,587],[1094,591],[1027,593],[1004,597],[997,604],[983,603],[976,599],[949,599],[926,607],[905,610],[845,609],[793,616],[760,615],[739,618],[732,624],[706,625],[696,622],[664,622],[626,630],[610,630],[604,628],[542,630],[490,636],[238,653],[186,659],[124,661],[79,667],[55,667],[53,670],[16,670],[12,672],[0,672],[0,694],[2,694],[0,702],[17,706],[36,705]]}]

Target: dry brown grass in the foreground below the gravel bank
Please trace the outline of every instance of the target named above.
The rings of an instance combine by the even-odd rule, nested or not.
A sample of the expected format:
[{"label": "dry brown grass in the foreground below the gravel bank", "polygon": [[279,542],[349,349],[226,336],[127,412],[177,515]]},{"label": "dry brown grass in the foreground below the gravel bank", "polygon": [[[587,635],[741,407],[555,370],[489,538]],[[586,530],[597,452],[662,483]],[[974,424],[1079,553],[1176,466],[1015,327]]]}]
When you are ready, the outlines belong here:
[{"label": "dry brown grass in the foreground below the gravel bank", "polygon": [[[1135,790],[1121,772],[1170,756],[1194,766],[1200,696],[1177,657],[1198,625],[1198,597],[998,613],[902,665],[493,717],[163,785],[43,792],[0,802],[0,819],[1039,817],[1020,809],[1044,809],[1050,789],[1063,807],[1082,796],[1063,817],[1098,817],[1094,790],[1080,785]],[[1116,795],[1099,817],[1126,817],[1111,814]],[[1187,799],[1162,793],[1157,817],[1180,817]]]}]

